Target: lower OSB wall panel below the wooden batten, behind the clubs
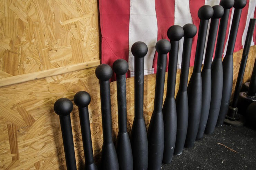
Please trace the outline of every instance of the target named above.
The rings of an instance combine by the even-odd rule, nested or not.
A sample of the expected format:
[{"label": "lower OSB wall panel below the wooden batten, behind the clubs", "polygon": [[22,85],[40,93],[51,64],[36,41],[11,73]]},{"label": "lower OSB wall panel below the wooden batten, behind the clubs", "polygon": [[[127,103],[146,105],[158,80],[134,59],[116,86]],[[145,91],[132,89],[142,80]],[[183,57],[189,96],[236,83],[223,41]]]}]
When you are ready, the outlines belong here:
[{"label": "lower OSB wall panel below the wooden batten, behind the clubs", "polygon": [[[243,50],[234,54],[234,84]],[[256,56],[251,47],[244,82],[250,78]],[[189,77],[193,67],[190,68]],[[148,128],[154,109],[156,75],[144,78],[144,118]],[[180,70],[177,70],[176,90]],[[166,95],[167,73],[165,76]],[[27,81],[0,88],[0,169],[66,169],[60,121],[53,111],[54,102],[61,97],[71,99],[80,90],[91,95],[89,118],[94,159],[99,161],[103,143],[100,89],[95,67]],[[116,82],[110,83],[112,134],[118,133]],[[134,119],[134,78],[127,79],[127,127],[130,133]],[[233,86],[234,91],[234,86]],[[84,166],[78,108],[71,113],[77,167]]]}]

